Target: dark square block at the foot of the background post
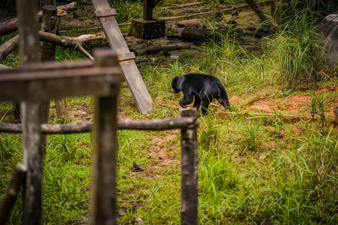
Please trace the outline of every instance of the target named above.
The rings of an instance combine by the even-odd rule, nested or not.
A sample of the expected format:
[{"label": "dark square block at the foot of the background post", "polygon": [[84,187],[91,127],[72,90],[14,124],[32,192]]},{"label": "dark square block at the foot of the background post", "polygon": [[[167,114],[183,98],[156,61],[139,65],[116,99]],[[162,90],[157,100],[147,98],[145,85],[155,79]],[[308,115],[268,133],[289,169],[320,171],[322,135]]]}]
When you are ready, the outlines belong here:
[{"label": "dark square block at the foot of the background post", "polygon": [[142,18],[131,20],[131,29],[128,36],[138,39],[156,39],[164,37],[165,20],[153,18],[153,20],[143,20]]}]

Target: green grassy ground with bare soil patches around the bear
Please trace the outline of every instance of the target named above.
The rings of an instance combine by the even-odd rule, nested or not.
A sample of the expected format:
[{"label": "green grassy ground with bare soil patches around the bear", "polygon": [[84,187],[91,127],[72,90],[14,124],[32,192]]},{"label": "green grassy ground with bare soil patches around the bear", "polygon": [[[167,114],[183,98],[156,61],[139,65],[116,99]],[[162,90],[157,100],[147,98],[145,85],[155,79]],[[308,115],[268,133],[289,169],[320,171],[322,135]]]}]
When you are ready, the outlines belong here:
[{"label": "green grassy ground with bare soil patches around the bear", "polygon": [[[294,33],[296,36],[296,34]],[[292,37],[291,35],[285,35]],[[284,37],[285,37],[284,36]],[[306,37],[288,41],[287,49],[304,49]],[[7,37],[8,38],[8,37]],[[282,40],[280,37],[276,37]],[[283,40],[288,40],[283,39]],[[302,40],[304,42],[302,42]],[[272,46],[266,55],[252,55],[232,42],[202,46],[200,59],[182,55],[183,64],[169,67],[144,67],[141,75],[154,99],[156,109],[149,115],[135,111],[135,103],[126,85],[121,88],[119,110],[132,119],[178,117],[179,110],[163,106],[177,103],[180,96],[169,92],[171,79],[187,71],[211,73],[228,84],[229,96],[248,97],[257,92],[281,89],[271,80],[290,74],[307,75],[304,70],[285,67],[294,52]],[[276,43],[276,42],[274,42]],[[281,46],[285,46],[282,42]],[[88,47],[89,48],[89,47]],[[284,50],[283,50],[284,49]],[[280,58],[285,54],[285,57]],[[277,57],[278,56],[278,57]],[[83,59],[76,51],[58,48],[58,61]],[[297,58],[296,58],[297,59]],[[6,65],[17,64],[17,54],[7,58]],[[296,63],[294,59],[292,62]],[[190,64],[188,64],[190,63]],[[308,63],[308,64],[307,64]],[[301,66],[311,64],[307,59]],[[295,68],[294,64],[291,68]],[[326,70],[317,73],[328,73]],[[332,76],[333,77],[333,76]],[[295,78],[295,79],[296,79]],[[300,78],[299,78],[300,79]],[[276,80],[281,79],[275,79]],[[295,114],[308,119],[288,123],[279,117],[242,116],[218,119],[215,108],[206,118],[199,118],[199,221],[201,224],[246,223],[336,223],[337,222],[337,126],[333,124],[332,106],[338,98],[337,80],[316,83],[316,92],[289,91],[287,96],[313,96],[307,108]],[[323,93],[321,90],[325,89]],[[276,93],[274,93],[276,95]],[[271,95],[270,95],[271,96]],[[275,114],[288,107],[284,98],[272,98]],[[72,111],[93,114],[92,97],[67,99]],[[232,104],[236,112],[245,110],[246,100]],[[284,107],[285,106],[285,107]],[[330,108],[331,106],[331,108]],[[313,112],[314,120],[311,118]],[[50,123],[55,108],[51,105]],[[2,121],[11,120],[8,102],[0,103]],[[80,117],[74,117],[74,121]],[[146,224],[179,224],[180,149],[179,131],[118,132],[118,205],[119,222],[130,224],[141,217]],[[43,176],[43,220],[46,224],[88,223],[90,191],[91,134],[49,135],[48,153]],[[159,158],[158,152],[162,152]],[[21,135],[0,134],[0,199],[6,191],[11,172],[21,162]],[[168,163],[169,159],[171,160]],[[141,164],[144,172],[134,172],[132,163]],[[19,196],[10,218],[21,221],[22,196]]]}]

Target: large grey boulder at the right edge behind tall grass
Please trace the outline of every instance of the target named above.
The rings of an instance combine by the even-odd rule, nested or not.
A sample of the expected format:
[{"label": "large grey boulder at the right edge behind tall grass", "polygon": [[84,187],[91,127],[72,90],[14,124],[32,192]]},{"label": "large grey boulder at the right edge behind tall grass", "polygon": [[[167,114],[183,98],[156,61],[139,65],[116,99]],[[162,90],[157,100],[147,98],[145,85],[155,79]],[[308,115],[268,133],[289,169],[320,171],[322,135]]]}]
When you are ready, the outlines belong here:
[{"label": "large grey boulder at the right edge behind tall grass", "polygon": [[329,67],[338,65],[338,11],[320,21],[317,29],[320,36],[316,38],[324,40],[320,45],[327,50],[326,56],[319,55],[317,59]]}]

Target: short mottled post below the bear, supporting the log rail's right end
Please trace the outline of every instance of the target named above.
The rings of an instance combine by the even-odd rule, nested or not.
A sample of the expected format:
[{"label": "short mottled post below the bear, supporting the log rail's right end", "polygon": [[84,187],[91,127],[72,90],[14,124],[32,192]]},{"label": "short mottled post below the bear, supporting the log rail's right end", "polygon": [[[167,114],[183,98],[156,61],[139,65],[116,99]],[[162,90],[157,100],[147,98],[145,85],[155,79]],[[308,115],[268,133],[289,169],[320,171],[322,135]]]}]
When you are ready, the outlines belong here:
[{"label": "short mottled post below the bear, supporting the log rail's right end", "polygon": [[[181,117],[196,117],[197,108],[181,109]],[[197,127],[181,132],[181,224],[197,224]]]}]

